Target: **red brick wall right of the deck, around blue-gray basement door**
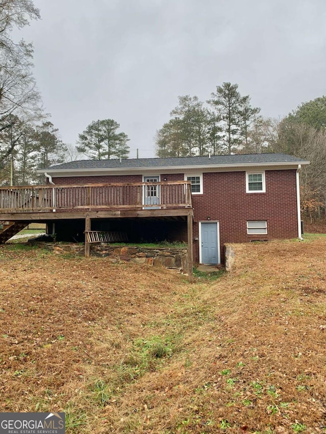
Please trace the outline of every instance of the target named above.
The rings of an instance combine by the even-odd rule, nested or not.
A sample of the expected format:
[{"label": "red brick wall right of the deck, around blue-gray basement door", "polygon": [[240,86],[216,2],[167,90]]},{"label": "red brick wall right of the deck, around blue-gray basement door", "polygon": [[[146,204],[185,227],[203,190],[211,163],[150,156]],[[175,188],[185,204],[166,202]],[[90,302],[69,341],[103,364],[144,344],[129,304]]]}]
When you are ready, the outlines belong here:
[{"label": "red brick wall right of the deck, around blue-gray basement door", "polygon": [[[246,193],[245,171],[203,173],[203,194],[193,195],[194,237],[199,221],[219,221],[222,261],[226,242],[297,237],[296,171],[266,170],[265,177],[266,193]],[[267,235],[247,235],[247,220],[266,220]]]}]

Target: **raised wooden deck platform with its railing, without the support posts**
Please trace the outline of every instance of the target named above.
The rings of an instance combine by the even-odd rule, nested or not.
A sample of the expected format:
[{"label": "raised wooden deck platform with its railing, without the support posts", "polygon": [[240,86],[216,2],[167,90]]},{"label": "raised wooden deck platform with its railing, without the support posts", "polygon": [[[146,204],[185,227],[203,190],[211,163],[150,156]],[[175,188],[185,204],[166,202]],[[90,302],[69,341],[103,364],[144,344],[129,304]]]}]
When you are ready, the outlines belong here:
[{"label": "raised wooden deck platform with its railing, without the support posts", "polygon": [[186,215],[188,181],[0,187],[0,220]]}]

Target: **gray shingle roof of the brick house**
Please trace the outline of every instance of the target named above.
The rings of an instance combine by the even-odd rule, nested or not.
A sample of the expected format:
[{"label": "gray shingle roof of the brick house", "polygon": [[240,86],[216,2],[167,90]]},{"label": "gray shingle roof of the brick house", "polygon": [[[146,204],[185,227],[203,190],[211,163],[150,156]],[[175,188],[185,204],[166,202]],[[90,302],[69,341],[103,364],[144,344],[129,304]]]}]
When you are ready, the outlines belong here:
[{"label": "gray shingle roof of the brick house", "polygon": [[[268,164],[268,163],[307,163],[306,160],[285,154],[239,154],[239,155],[214,155],[206,157],[178,157],[178,158],[138,158],[125,160],[79,160],[70,163],[51,166],[46,170],[70,170],[70,169],[132,169],[132,168],[173,168],[179,166],[224,166],[243,164]],[[43,170],[42,170],[43,171]]]}]

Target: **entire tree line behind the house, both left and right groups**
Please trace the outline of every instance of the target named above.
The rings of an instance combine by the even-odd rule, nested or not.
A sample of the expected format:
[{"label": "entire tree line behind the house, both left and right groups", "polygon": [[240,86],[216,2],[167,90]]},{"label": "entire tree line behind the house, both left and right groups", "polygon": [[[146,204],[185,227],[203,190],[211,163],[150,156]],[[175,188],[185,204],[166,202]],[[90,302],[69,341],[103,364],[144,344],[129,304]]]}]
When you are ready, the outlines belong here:
[{"label": "entire tree line behind the house, both left and right groups", "polygon": [[[36,169],[80,158],[128,158],[128,135],[113,119],[92,121],[76,146],[63,143],[44,113],[33,77],[33,45],[14,41],[40,12],[32,0],[0,0],[0,185],[42,182]],[[282,152],[307,159],[302,207],[312,218],[326,204],[326,97],[296,107],[284,119],[264,118],[237,84],[216,86],[205,102],[179,96],[155,135],[158,157]]]}]

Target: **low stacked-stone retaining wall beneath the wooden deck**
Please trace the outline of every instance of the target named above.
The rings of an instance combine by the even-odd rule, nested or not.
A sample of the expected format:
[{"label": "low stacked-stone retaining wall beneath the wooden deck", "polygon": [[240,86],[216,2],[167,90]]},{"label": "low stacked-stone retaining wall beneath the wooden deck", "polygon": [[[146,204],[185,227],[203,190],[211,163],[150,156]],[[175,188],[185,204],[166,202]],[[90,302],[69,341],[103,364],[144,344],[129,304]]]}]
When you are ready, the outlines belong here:
[{"label": "low stacked-stone retaining wall beneath the wooden deck", "polygon": [[[72,253],[84,256],[85,247],[80,244],[46,243],[29,241],[30,245],[38,246],[54,253]],[[129,247],[110,246],[105,243],[91,245],[91,256],[106,257],[112,263],[130,261],[137,264],[147,264],[153,267],[165,267],[187,273],[187,249],[165,247]]]}]

